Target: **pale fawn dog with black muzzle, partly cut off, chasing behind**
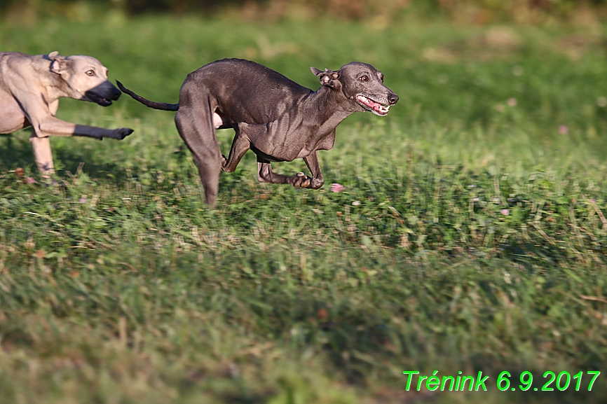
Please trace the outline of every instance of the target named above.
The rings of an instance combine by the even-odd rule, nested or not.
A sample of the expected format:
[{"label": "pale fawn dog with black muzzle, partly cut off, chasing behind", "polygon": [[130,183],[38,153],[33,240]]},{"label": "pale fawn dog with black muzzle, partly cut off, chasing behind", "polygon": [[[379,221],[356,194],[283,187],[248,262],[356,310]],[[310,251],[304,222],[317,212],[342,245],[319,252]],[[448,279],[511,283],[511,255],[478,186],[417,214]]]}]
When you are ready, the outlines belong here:
[{"label": "pale fawn dog with black muzzle, partly cut off, chasing behind", "polygon": [[53,172],[48,136],[124,139],[132,129],[102,129],[55,118],[60,97],[109,106],[121,92],[107,80],[107,69],[90,56],[0,53],[0,133],[32,126],[30,141],[42,174]]}]

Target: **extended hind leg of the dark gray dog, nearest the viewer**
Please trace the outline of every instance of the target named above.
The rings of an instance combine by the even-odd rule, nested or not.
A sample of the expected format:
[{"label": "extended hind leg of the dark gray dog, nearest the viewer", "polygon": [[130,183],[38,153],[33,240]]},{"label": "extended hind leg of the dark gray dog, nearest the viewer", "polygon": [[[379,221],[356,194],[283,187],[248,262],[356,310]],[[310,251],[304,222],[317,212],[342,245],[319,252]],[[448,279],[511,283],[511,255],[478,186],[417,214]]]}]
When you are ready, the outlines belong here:
[{"label": "extended hind leg of the dark gray dog, nearest the viewer", "polygon": [[[182,92],[184,90],[182,89]],[[205,201],[214,208],[219,191],[221,151],[212,127],[212,111],[207,97],[191,97],[189,103],[179,107],[175,124],[182,139],[193,154],[200,182],[205,190]]]}]

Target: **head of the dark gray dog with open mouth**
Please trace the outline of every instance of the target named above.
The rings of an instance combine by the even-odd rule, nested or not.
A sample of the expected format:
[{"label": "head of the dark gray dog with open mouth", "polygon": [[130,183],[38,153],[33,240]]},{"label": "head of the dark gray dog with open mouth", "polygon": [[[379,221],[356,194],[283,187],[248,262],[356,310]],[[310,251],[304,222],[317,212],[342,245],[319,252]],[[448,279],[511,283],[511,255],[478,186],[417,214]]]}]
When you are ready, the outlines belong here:
[{"label": "head of the dark gray dog with open mouth", "polygon": [[386,116],[390,106],[398,102],[398,96],[383,85],[381,71],[370,64],[350,62],[338,71],[310,69],[320,78],[320,84],[341,90],[355,111],[371,111],[378,116]]}]

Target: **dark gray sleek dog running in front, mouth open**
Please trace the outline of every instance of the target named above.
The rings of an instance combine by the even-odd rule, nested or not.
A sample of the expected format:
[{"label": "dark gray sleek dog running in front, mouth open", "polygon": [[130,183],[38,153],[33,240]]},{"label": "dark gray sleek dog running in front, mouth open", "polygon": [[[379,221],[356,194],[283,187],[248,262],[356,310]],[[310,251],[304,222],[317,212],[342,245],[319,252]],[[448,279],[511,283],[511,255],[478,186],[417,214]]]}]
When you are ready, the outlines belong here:
[{"label": "dark gray sleek dog running in front, mouth open", "polygon": [[[233,172],[251,149],[257,155],[257,179],[318,189],[325,183],[316,151],[329,150],[335,128],[356,111],[386,116],[397,95],[383,85],[370,64],[351,62],[338,71],[311,67],[322,87],[313,91],[267,67],[240,59],[218,60],[189,74],[179,104],[151,102],[118,87],[142,104],[178,111],[177,130],[191,150],[207,204],[214,207],[219,173]],[[221,155],[215,129],[236,130],[228,158]],[[271,162],[303,158],[311,177],[275,174]]]}]

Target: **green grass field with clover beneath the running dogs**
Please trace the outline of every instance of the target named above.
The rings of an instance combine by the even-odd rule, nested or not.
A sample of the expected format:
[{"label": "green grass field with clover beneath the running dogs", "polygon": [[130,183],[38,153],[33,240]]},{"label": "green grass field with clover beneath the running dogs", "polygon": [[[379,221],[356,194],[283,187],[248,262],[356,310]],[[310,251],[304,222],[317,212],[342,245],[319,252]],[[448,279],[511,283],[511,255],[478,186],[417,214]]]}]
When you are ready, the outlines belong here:
[{"label": "green grass field with clover beneath the running dogs", "polygon": [[[29,132],[0,136],[0,401],[605,403],[606,34],[407,19],[4,23],[1,50],[93,55],[157,101],[177,102],[203,64],[246,57],[314,89],[310,66],[368,62],[400,102],[340,125],[319,154],[321,190],[257,183],[247,153],[221,175],[215,211],[174,114],[128,97],[62,101],[60,118],[135,133],[52,139],[57,186],[39,177]],[[232,136],[219,131],[224,153]],[[488,391],[406,391],[404,370],[482,371]],[[497,388],[503,370],[517,391]],[[540,390],[548,370],[584,373],[579,391],[558,391],[564,379],[520,391],[525,370]]]}]

